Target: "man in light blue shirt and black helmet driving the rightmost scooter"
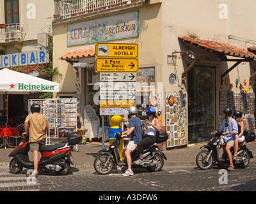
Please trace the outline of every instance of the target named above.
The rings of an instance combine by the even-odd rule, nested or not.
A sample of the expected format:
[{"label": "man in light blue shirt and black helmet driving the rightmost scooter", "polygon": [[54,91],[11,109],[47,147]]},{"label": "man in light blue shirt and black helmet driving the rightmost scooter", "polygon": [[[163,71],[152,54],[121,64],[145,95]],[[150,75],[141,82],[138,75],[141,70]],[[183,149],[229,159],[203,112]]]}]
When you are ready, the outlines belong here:
[{"label": "man in light blue shirt and black helmet driving the rightmost scooter", "polygon": [[223,123],[221,125],[220,130],[223,132],[223,137],[221,138],[221,143],[226,144],[225,150],[227,151],[227,156],[229,160],[230,166],[228,167],[228,171],[234,171],[234,165],[232,161],[232,153],[230,152],[230,149],[234,147],[234,140],[236,139],[237,133],[238,133],[238,127],[237,122],[235,119],[231,117],[232,115],[232,109],[231,108],[225,108],[223,110]]}]

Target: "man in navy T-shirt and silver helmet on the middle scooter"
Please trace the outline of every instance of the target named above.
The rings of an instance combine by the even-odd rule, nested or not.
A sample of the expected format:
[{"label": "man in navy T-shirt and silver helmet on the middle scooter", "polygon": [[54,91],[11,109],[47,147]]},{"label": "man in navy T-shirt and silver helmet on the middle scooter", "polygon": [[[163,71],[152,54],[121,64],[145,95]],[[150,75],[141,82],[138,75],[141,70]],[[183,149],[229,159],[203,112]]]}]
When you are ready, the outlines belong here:
[{"label": "man in navy T-shirt and silver helmet on the middle scooter", "polygon": [[123,176],[132,176],[132,157],[131,153],[136,149],[137,144],[142,140],[142,128],[141,128],[141,120],[137,117],[138,109],[135,106],[131,106],[129,108],[129,130],[122,137],[126,137],[130,135],[129,143],[124,147],[125,159],[127,162],[128,169],[125,171]]}]

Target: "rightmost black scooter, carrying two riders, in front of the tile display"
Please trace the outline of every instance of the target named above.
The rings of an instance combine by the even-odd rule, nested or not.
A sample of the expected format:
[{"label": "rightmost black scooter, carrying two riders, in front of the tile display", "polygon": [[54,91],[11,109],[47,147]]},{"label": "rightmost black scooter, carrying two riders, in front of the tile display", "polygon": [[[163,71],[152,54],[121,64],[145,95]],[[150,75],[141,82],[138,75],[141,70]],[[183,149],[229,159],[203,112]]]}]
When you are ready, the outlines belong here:
[{"label": "rightmost black scooter, carrying two riders, in front of the tile display", "polygon": [[[221,131],[213,131],[213,137],[207,143],[200,147],[200,149],[207,149],[198,152],[196,155],[196,165],[202,170],[211,168],[212,164],[229,164],[227,152],[224,151],[222,157],[219,158],[220,152],[218,145],[220,143],[220,137],[223,135]],[[237,151],[237,160],[233,161],[238,168],[247,168],[250,163],[250,159],[253,158],[253,154],[246,146],[246,143],[255,140],[255,133],[253,131],[244,131],[245,140],[243,143],[239,143],[239,149]],[[234,156],[234,147],[230,149],[232,156]]]}]

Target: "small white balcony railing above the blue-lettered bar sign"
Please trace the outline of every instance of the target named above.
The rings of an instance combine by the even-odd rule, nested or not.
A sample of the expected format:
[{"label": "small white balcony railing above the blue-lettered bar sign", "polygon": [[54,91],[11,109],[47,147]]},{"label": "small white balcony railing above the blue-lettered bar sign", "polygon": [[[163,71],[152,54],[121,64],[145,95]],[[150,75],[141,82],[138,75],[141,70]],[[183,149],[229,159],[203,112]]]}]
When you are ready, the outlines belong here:
[{"label": "small white balcony railing above the blue-lettered bar sign", "polygon": [[7,24],[0,27],[1,43],[6,41],[24,40],[24,35],[24,24]]}]

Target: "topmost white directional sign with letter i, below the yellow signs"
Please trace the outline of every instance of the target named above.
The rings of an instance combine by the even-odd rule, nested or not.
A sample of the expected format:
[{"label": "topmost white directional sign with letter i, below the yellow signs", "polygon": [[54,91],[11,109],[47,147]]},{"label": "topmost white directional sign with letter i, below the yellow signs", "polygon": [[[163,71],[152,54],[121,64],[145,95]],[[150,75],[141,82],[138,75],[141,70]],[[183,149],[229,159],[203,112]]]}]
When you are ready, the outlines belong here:
[{"label": "topmost white directional sign with letter i, below the yellow signs", "polygon": [[100,72],[100,82],[136,82],[135,73]]}]

